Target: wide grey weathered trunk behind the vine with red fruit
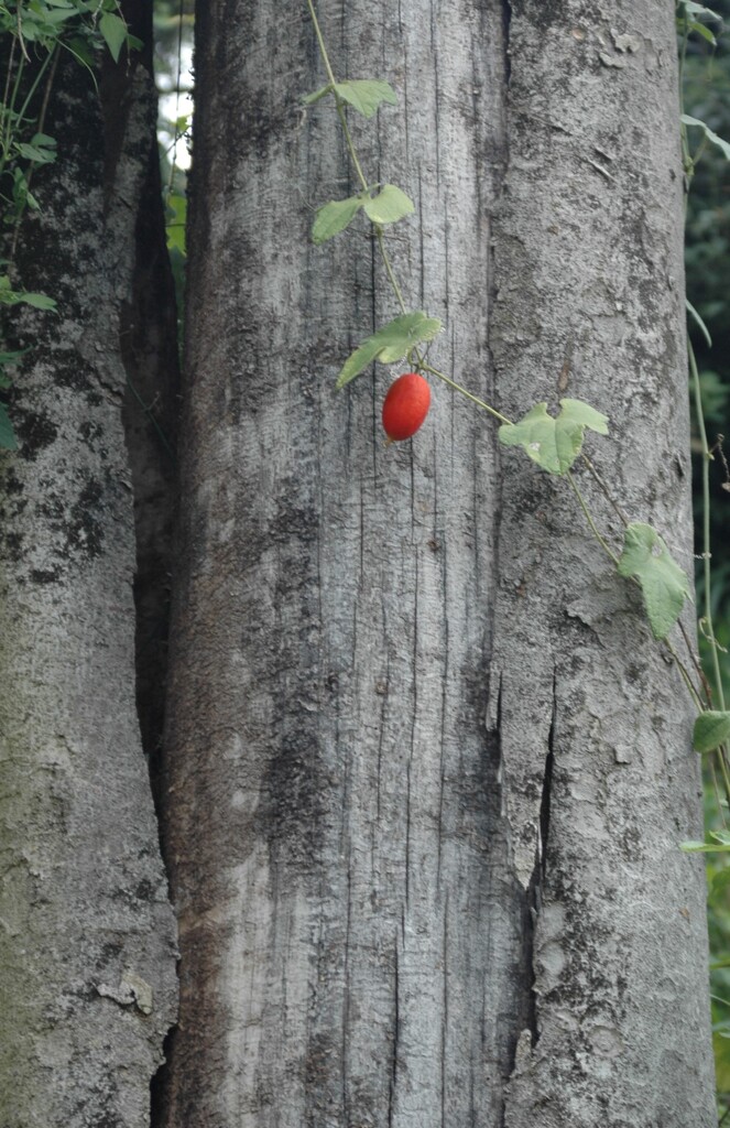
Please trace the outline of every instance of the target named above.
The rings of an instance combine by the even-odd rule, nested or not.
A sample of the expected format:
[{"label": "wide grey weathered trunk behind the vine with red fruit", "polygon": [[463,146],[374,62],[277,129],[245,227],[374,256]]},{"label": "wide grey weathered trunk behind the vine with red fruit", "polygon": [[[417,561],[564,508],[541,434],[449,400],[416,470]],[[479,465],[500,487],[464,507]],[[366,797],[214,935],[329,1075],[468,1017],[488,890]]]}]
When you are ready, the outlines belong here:
[{"label": "wide grey weathered trunk behind the vine with red fruit", "polygon": [[[513,416],[606,411],[601,469],[689,563],[671,6],[319,15],[338,77],[399,95],[351,125],[416,203],[388,246],[439,367]],[[196,35],[164,1123],[709,1126],[679,679],[472,405],[436,387],[386,449],[384,370],[334,394],[398,310],[364,223],[308,238],[358,185],[298,100],[306,6],[204,5]]]}]

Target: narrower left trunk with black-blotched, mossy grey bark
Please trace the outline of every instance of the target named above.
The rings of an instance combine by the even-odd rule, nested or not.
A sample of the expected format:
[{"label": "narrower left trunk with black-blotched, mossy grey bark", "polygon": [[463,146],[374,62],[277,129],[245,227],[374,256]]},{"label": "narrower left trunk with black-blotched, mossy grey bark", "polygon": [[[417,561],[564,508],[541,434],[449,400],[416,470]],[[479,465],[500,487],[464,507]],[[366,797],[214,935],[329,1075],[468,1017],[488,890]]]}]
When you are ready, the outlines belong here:
[{"label": "narrower left trunk with black-blotched, mossy grey bark", "polygon": [[120,343],[156,96],[134,61],[100,89],[104,116],[62,53],[45,126],[59,161],[34,177],[43,210],[17,262],[59,314],[14,320],[29,352],[11,406],[19,450],[1,460],[3,1128],[146,1128],[175,1017],[175,924],[134,704]]}]

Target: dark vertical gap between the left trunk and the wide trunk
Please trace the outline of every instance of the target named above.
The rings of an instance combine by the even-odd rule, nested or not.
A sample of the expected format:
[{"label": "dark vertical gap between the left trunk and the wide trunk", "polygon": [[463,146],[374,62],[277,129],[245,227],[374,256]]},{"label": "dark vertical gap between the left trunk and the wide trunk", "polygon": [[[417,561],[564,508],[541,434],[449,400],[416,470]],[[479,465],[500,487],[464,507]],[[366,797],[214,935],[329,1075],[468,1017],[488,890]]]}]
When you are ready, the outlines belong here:
[{"label": "dark vertical gap between the left trunk and the wide trunk", "polygon": [[[151,60],[148,62],[151,65]],[[179,364],[177,307],[165,238],[151,79],[149,89],[148,135],[140,140],[140,148],[147,142],[148,151],[146,157],[140,157],[146,161],[146,168],[134,229],[131,294],[121,309],[118,336],[126,371],[122,423],[132,479],[137,541],[133,588],[137,711],[165,866],[159,776],[176,490]],[[111,85],[105,90],[105,120],[107,127],[112,123],[118,131],[114,114],[117,97]],[[120,143],[112,134],[113,148]],[[116,161],[107,160],[107,177],[113,176],[115,165]],[[115,182],[107,182],[107,191],[115,191]],[[161,1047],[162,1065],[150,1078],[152,1128],[162,1122],[165,1114],[166,1060],[169,1059],[176,1029],[174,1025],[168,1030]]]}]

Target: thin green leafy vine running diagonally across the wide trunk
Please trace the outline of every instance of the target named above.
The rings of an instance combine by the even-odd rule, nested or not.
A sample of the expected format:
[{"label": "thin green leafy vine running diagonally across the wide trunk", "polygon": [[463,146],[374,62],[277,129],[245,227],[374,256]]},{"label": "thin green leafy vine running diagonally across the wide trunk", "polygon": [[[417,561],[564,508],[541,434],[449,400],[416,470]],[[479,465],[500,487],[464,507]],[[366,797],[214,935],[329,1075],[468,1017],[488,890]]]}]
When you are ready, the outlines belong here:
[{"label": "thin green leafy vine running diagonally across the wide trunk", "polygon": [[[687,600],[692,598],[689,580],[672,558],[667,545],[656,529],[643,522],[630,522],[623,514],[623,546],[619,553],[615,552],[610,547],[608,535],[603,534],[598,528],[588,502],[575,481],[575,476],[571,473],[575,461],[581,458],[583,464],[590,469],[591,475],[598,479],[603,492],[609,499],[614,510],[621,512],[615,501],[610,497],[610,492],[606,483],[599,478],[592,462],[590,462],[583,452],[586,432],[593,431],[597,434],[607,435],[608,418],[582,400],[561,399],[560,412],[556,416],[548,413],[546,403],[539,403],[530,407],[527,414],[520,420],[513,422],[491,404],[474,396],[451,376],[442,372],[433,364],[426,363],[421,346],[434,341],[442,328],[441,321],[438,318],[430,317],[423,310],[410,311],[406,308],[403,291],[395,276],[385,244],[385,229],[404,219],[406,215],[412,214],[415,211],[415,206],[413,201],[396,185],[371,183],[367,178],[352,140],[346,116],[348,109],[353,109],[366,118],[372,117],[381,105],[395,105],[395,91],[388,82],[380,79],[338,80],[335,77],[329,60],[313,0],[307,0],[307,7],[327,74],[327,82],[314,94],[305,95],[302,102],[307,106],[313,106],[324,98],[332,98],[334,100],[350,159],[360,183],[360,191],[357,195],[345,200],[328,201],[317,209],[311,229],[311,238],[315,244],[325,243],[350,227],[361,211],[364,212],[372,226],[375,241],[382,259],[395,302],[401,311],[397,317],[362,341],[358,349],[345,360],[337,376],[335,387],[337,389],[344,388],[376,361],[382,364],[393,364],[404,360],[413,369],[414,373],[420,376],[428,373],[436,377],[448,385],[455,393],[465,396],[496,420],[500,423],[498,432],[499,441],[503,446],[520,447],[528,458],[536,462],[543,470],[566,478],[586,517],[591,534],[612,561],[618,574],[640,587],[651,633],[668,650],[697,708],[698,715],[695,721],[693,738],[694,748],[701,752],[710,751],[716,755],[725,794],[730,800],[730,770],[728,768],[730,712],[727,712],[724,708],[719,673],[715,671],[716,676],[714,677],[713,689],[702,673],[689,637],[681,626],[679,626],[680,635],[688,654],[686,662],[679,656],[676,646],[670,641],[670,634],[677,626]],[[707,15],[715,18],[714,14],[710,12],[709,9],[701,8],[700,5],[691,2],[691,0],[680,0],[680,7],[685,9],[684,18],[688,21],[691,30],[694,30],[696,25],[703,28],[703,34],[707,33],[707,28],[700,20]],[[683,138],[686,135],[687,126],[695,124],[702,126],[702,123],[696,122],[695,118],[688,118],[683,114]],[[703,132],[705,140],[716,141],[724,146],[724,142],[715,138],[706,126],[703,126]],[[697,157],[694,158],[695,161]],[[686,168],[688,168],[687,164]],[[698,315],[695,314],[695,317],[698,317]],[[692,353],[691,363],[693,363]],[[704,450],[707,452],[706,438],[704,440]],[[711,457],[707,452],[706,460]],[[709,563],[709,544],[704,546],[704,555]],[[706,581],[705,615],[702,626],[703,633],[711,644],[716,670],[719,670],[719,666],[716,664],[718,647],[714,642],[709,593],[710,585],[709,581]],[[713,694],[716,694],[719,710],[713,707]],[[720,848],[730,849],[730,835],[728,835],[727,845],[724,838],[718,845]],[[686,849],[707,848],[705,844],[695,843],[686,843],[684,846]]]}]

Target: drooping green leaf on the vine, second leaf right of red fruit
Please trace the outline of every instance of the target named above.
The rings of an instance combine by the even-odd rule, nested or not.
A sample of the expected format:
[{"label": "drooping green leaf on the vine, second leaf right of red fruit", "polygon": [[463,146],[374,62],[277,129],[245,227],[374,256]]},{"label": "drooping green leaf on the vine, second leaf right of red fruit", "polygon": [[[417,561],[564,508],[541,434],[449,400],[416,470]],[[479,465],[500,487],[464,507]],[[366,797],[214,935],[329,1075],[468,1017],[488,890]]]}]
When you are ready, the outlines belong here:
[{"label": "drooping green leaf on the vine, second leaf right of red fruit", "polygon": [[640,523],[626,527],[617,571],[639,581],[651,633],[666,638],[689,597],[689,581],[656,529]]}]

